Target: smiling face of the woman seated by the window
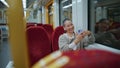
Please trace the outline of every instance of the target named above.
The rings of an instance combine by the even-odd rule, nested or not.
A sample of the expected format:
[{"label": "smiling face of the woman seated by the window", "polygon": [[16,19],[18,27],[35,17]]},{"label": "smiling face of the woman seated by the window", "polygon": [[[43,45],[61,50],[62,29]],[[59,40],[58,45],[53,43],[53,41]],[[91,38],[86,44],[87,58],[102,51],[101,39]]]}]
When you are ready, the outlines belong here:
[{"label": "smiling face of the woman seated by the window", "polygon": [[71,21],[65,21],[64,23],[64,29],[66,30],[66,32],[68,33],[73,33],[74,32],[74,25],[72,24]]}]

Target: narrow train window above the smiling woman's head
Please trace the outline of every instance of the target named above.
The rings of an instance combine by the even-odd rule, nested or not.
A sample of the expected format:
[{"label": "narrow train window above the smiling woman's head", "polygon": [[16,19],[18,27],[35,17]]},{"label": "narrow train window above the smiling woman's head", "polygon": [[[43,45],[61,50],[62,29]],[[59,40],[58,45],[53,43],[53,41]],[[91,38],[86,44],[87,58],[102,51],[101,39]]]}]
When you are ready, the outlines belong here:
[{"label": "narrow train window above the smiling woman's head", "polygon": [[65,18],[72,20],[72,0],[60,0],[60,10],[61,25]]}]

